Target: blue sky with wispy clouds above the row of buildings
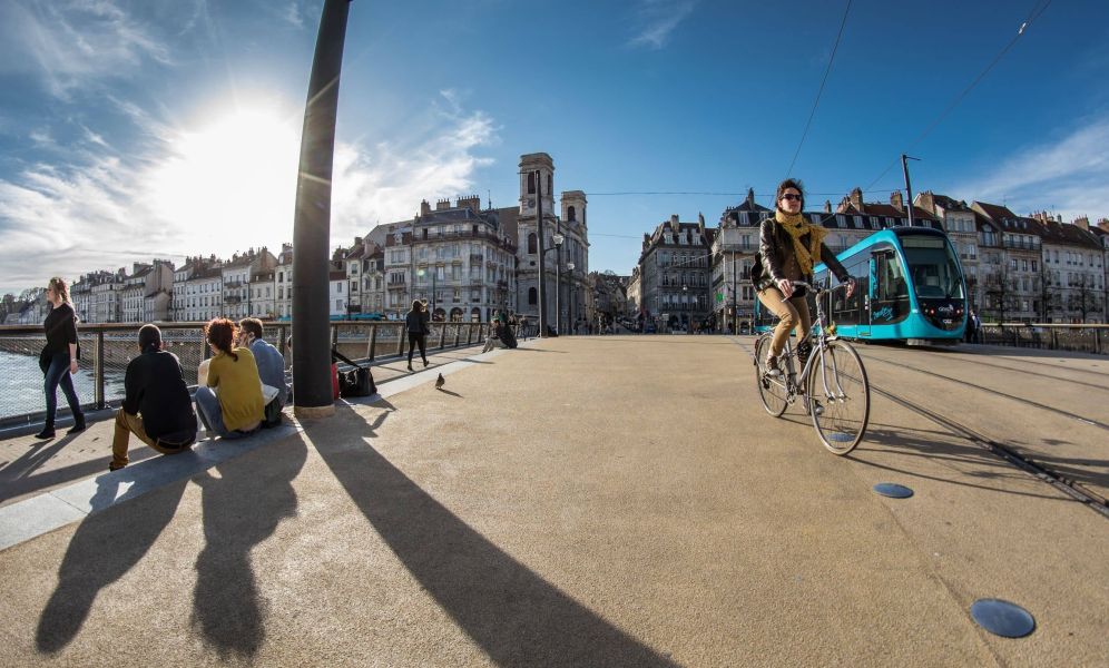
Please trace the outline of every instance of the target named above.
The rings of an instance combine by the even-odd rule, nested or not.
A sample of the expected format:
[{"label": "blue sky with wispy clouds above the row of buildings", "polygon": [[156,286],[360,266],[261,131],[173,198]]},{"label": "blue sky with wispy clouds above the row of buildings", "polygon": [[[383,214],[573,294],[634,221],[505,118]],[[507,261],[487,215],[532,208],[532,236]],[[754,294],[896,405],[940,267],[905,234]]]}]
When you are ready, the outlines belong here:
[{"label": "blue sky with wispy clouds above the row of buildings", "polygon": [[[1109,3],[854,0],[797,164],[853,187],[1109,216]],[[517,203],[519,156],[589,194],[590,267],[629,273],[670,214],[709,224],[787,176],[846,2],[351,4],[332,220]],[[0,2],[0,291],[292,239],[318,0]]]}]

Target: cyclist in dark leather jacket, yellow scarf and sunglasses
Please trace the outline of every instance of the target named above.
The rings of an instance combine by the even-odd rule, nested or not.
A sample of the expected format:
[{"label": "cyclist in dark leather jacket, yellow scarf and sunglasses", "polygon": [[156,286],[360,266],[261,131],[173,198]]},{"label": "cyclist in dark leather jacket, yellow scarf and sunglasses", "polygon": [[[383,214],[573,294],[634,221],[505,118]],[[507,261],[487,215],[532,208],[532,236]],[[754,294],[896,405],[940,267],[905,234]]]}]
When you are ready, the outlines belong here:
[{"label": "cyclist in dark leather jacket, yellow scarf and sunglasses", "polygon": [[[769,375],[779,375],[778,356],[794,327],[798,338],[804,340],[812,328],[813,320],[805,301],[805,288],[795,287],[793,281],[812,283],[813,266],[823,262],[835,274],[840,283],[847,284],[847,296],[855,292],[855,281],[843,268],[835,253],[824,245],[827,230],[812,225],[801,213],[805,206],[805,194],[799,180],[787,178],[778,186],[773,218],[763,220],[758,234],[760,266],[752,267],[752,281],[763,306],[781,320],[774,328],[771,351],[766,358]],[[797,345],[802,365],[808,358],[812,345],[803,341]]]}]

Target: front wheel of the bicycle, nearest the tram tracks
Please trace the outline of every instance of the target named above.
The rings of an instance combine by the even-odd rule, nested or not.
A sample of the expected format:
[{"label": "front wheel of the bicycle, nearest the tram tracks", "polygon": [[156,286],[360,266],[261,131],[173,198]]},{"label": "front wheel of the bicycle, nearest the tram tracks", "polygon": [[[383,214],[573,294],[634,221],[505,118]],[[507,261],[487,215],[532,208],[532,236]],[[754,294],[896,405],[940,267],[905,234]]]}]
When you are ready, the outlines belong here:
[{"label": "front wheel of the bicycle, nearest the tram tracks", "polygon": [[813,351],[808,374],[809,414],[821,442],[835,454],[847,454],[866,433],[871,415],[871,384],[858,353],[846,342],[830,341]]}]

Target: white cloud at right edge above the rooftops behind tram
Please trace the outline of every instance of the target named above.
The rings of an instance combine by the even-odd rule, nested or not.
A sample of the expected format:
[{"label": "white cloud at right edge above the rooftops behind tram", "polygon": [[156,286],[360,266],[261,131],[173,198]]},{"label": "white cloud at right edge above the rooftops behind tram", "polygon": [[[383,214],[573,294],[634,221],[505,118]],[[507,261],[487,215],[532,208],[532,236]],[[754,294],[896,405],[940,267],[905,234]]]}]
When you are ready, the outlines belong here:
[{"label": "white cloud at right edge above the rooftops behind tram", "polygon": [[1047,209],[1067,220],[1109,216],[1109,118],[1021,148],[960,190],[968,199],[1004,202],[1018,214]]}]

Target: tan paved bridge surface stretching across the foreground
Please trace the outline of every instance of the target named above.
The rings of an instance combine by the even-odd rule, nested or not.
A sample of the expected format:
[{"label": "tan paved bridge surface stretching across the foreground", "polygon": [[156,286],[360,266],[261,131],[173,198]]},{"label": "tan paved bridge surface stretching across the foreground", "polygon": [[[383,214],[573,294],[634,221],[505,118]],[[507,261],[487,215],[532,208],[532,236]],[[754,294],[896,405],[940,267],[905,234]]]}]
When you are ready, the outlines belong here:
[{"label": "tan paved bridge surface stretching across the foreground", "polygon": [[0,664],[1109,665],[1106,358],[861,346],[837,458],[763,411],[752,344],[457,351],[115,473],[108,422],[7,439]]}]

